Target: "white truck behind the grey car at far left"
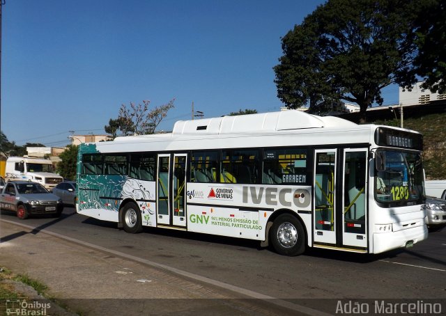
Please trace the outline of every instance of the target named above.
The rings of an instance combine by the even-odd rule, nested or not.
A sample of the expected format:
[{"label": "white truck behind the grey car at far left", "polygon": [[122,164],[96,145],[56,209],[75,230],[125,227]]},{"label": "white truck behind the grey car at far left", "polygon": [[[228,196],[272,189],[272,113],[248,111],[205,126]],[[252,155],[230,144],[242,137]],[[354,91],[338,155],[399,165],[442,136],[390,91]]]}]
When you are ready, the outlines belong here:
[{"label": "white truck behind the grey car at far left", "polygon": [[56,187],[63,177],[54,173],[52,161],[37,157],[8,157],[5,167],[5,180],[25,180],[42,184],[47,189]]}]

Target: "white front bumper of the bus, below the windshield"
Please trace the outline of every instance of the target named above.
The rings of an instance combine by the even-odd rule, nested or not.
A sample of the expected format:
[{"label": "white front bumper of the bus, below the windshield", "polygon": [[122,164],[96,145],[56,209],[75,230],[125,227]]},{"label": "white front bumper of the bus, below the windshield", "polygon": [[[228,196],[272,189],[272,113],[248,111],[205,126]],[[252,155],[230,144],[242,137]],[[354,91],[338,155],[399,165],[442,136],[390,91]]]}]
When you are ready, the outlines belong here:
[{"label": "white front bumper of the bus, below the windshield", "polygon": [[374,249],[372,253],[383,253],[396,248],[412,246],[427,239],[426,225],[399,230],[397,232],[374,233]]}]

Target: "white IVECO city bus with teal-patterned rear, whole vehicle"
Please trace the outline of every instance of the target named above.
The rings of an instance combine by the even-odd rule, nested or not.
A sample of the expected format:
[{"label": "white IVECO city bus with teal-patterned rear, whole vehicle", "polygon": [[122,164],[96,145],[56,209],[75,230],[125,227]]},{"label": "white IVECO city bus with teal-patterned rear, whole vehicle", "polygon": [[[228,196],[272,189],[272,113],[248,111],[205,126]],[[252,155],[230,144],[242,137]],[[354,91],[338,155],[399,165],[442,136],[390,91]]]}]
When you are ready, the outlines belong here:
[{"label": "white IVECO city bus with teal-patterned rear, whole vehicle", "polygon": [[427,237],[421,150],[408,129],[296,110],[178,121],[169,134],[80,145],[76,207],[127,232],[381,253]]}]

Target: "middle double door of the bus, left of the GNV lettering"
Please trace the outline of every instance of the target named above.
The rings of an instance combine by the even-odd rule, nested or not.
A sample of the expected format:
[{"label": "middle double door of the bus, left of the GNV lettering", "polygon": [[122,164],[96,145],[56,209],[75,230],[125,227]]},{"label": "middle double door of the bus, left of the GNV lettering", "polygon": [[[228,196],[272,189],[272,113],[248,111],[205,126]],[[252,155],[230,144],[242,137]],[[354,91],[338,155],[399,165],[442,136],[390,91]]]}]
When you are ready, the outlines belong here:
[{"label": "middle double door of the bus, left of the GNV lettering", "polygon": [[186,226],[186,154],[158,155],[157,224]]}]

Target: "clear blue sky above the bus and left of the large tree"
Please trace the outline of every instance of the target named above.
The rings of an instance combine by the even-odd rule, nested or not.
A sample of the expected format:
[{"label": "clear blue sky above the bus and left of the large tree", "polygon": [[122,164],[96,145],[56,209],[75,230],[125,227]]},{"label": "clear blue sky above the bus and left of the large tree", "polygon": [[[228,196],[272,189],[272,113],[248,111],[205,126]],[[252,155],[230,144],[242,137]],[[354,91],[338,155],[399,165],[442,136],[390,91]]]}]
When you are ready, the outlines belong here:
[{"label": "clear blue sky above the bus and left of the large tree", "polygon": [[[1,131],[63,147],[105,134],[121,104],[150,100],[176,120],[279,111],[281,38],[323,0],[6,0]],[[397,103],[398,88],[383,91]]]}]

